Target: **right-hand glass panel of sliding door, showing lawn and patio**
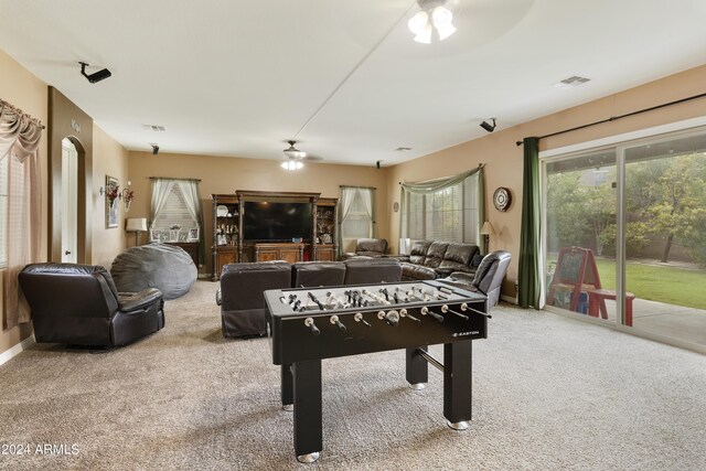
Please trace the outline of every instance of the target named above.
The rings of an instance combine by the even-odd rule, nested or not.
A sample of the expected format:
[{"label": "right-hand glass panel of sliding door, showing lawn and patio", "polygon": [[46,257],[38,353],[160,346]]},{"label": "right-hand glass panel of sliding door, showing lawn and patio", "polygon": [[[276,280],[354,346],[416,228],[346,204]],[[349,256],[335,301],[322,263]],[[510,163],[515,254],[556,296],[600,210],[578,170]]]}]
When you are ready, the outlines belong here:
[{"label": "right-hand glass panel of sliding door, showing lawn and patio", "polygon": [[706,132],[624,149],[624,325],[706,345]]}]

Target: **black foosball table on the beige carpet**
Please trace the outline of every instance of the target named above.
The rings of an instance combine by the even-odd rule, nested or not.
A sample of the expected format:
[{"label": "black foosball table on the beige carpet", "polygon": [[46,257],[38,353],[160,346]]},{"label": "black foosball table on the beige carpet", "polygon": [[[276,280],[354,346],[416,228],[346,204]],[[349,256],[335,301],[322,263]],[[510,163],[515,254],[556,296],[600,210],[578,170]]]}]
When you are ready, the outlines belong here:
[{"label": "black foosball table on the beige carpet", "polygon": [[[413,389],[428,364],[443,372],[443,416],[456,430],[471,419],[471,341],[485,339],[482,295],[440,281],[275,289],[265,291],[272,362],[281,365],[281,403],[293,409],[295,453],[319,459],[323,448],[321,360],[406,349]],[[443,344],[443,363],[428,345]]]}]

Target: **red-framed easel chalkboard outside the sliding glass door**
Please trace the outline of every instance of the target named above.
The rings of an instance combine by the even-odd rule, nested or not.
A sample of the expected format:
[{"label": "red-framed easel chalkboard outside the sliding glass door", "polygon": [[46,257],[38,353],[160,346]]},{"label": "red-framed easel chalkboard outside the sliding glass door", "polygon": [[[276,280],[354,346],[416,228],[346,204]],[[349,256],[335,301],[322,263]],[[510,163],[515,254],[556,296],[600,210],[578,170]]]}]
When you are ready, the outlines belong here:
[{"label": "red-framed easel chalkboard outside the sliding glass door", "polygon": [[[575,312],[578,312],[578,300],[581,291],[601,289],[596,257],[590,248],[564,247],[559,250],[559,258],[549,285],[547,304],[554,304],[557,289],[567,288],[573,293],[571,311]],[[606,301],[601,298],[600,302],[605,312]]]}]

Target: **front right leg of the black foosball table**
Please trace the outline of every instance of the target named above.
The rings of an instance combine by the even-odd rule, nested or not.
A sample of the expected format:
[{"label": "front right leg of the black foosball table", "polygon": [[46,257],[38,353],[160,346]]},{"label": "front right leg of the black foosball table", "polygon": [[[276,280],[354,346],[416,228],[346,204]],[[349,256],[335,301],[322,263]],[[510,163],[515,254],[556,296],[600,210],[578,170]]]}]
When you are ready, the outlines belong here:
[{"label": "front right leg of the black foosball table", "polygon": [[443,344],[443,416],[454,430],[471,420],[471,341]]}]

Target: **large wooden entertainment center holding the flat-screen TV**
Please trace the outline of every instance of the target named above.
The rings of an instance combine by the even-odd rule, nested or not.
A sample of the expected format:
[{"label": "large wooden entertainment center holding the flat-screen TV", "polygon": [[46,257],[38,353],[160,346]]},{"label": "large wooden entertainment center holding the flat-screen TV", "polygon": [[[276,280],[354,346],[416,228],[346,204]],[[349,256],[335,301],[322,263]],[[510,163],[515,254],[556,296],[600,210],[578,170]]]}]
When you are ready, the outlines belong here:
[{"label": "large wooden entertainment center holding the flat-screen TV", "polygon": [[212,194],[213,280],[238,261],[334,260],[338,199],[321,193],[236,190]]}]

